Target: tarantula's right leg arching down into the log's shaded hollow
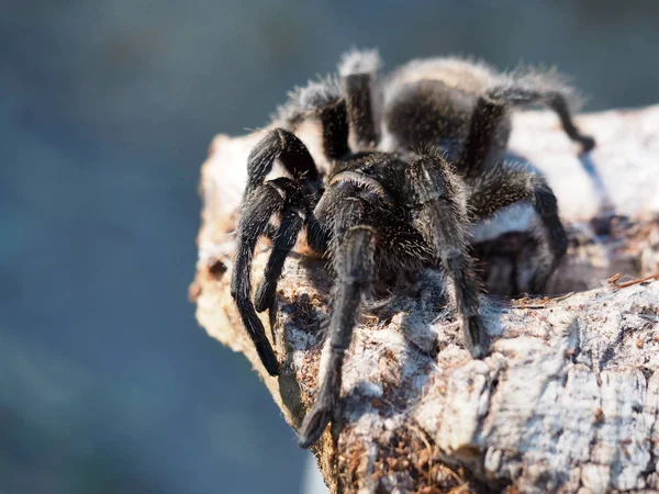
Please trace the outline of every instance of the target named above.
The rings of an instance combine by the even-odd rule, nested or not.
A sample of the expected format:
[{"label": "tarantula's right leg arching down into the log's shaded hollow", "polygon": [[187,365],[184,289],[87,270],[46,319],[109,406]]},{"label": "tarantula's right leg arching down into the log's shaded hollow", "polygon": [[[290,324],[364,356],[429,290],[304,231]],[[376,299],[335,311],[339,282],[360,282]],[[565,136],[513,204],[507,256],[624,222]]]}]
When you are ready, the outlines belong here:
[{"label": "tarantula's right leg arching down into the log's shaded hollow", "polygon": [[568,236],[558,215],[558,202],[547,180],[525,167],[500,162],[474,183],[469,198],[473,220],[489,217],[517,201],[528,199],[543,224],[539,266],[529,281],[532,293],[541,293],[566,255]]}]

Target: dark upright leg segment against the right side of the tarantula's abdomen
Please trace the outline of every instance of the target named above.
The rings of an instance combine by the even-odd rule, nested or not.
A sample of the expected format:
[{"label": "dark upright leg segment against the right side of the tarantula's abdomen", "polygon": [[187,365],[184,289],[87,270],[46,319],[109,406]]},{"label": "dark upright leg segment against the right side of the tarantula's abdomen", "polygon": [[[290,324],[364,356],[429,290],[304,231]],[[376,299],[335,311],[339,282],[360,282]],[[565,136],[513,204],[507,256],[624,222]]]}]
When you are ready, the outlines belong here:
[{"label": "dark upright leg segment against the right side of the tarantula's abdomen", "polygon": [[491,153],[496,130],[505,115],[505,103],[500,98],[479,97],[471,121],[469,134],[460,150],[457,169],[467,179],[479,177]]}]

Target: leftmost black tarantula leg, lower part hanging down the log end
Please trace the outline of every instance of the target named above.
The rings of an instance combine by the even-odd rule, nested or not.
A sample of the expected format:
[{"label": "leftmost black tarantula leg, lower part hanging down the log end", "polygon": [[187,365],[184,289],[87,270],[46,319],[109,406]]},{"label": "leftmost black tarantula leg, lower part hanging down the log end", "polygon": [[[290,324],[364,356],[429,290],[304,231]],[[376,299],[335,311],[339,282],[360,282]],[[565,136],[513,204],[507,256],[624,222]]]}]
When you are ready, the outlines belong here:
[{"label": "leftmost black tarantula leg, lower part hanging down the log end", "polygon": [[252,261],[258,238],[266,232],[270,217],[281,211],[283,203],[279,190],[270,182],[258,186],[247,199],[238,222],[237,252],[231,278],[231,295],[236,302],[256,351],[270,375],[279,373],[279,364],[252,303]]}]

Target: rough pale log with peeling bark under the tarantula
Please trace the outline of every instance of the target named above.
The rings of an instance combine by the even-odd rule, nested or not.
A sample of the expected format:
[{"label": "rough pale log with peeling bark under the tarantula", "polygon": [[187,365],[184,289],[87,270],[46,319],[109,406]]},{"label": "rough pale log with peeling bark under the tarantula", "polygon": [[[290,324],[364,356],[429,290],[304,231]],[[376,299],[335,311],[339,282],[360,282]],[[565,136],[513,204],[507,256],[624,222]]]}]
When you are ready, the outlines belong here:
[{"label": "rough pale log with peeling bark under the tarantula", "polygon": [[[516,115],[511,146],[547,175],[570,229],[549,291],[577,293],[484,297],[493,345],[481,361],[461,348],[451,307],[429,303],[439,272],[366,306],[344,367],[343,431],[314,448],[331,492],[659,492],[659,106],[579,124],[599,144],[581,160],[550,113]],[[246,157],[261,135],[211,146],[190,295],[201,325],[245,353],[297,428],[313,403],[332,278],[322,260],[287,261],[271,334],[282,373],[267,375],[227,273]],[[302,137],[317,149],[314,128]],[[611,211],[627,218],[601,221]],[[520,228],[535,221],[504,214]],[[524,262],[495,257],[488,262],[504,271]]]}]

